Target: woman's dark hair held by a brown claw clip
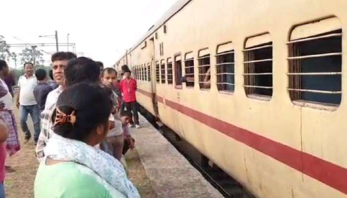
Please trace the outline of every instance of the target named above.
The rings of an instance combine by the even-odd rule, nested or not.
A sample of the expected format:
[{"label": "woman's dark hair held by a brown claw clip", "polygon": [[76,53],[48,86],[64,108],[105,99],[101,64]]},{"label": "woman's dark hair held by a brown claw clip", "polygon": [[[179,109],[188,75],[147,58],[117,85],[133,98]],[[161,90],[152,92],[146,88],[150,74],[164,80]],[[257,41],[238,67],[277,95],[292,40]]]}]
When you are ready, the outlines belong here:
[{"label": "woman's dark hair held by a brown claw clip", "polygon": [[[57,108],[70,115],[75,111],[76,122],[58,124],[54,132],[64,138],[86,141],[89,135],[102,124],[107,124],[111,114],[109,93],[95,85],[79,83],[63,91],[58,98]],[[56,110],[52,121],[55,122]]]}]

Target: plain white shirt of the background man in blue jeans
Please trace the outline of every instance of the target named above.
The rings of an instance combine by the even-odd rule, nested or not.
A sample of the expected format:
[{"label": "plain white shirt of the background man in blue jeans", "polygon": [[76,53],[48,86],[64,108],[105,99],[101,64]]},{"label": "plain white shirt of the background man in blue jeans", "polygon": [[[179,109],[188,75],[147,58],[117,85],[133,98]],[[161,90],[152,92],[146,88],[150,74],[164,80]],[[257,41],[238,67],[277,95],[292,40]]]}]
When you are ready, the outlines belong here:
[{"label": "plain white shirt of the background man in blue jeans", "polygon": [[19,103],[20,105],[35,105],[37,104],[34,97],[34,89],[38,85],[35,76],[29,78],[26,75],[20,76],[18,80],[18,87],[20,88]]}]

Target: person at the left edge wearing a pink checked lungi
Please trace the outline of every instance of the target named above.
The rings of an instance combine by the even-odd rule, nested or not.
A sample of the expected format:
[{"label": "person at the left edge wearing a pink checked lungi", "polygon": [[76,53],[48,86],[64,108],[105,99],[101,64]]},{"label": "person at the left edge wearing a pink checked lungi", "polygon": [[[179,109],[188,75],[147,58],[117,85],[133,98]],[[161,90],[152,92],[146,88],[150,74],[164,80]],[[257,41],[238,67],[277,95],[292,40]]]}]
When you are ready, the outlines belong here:
[{"label": "person at the left edge wearing a pink checked lungi", "polygon": [[[16,119],[13,114],[13,97],[9,93],[8,87],[3,81],[8,74],[8,66],[4,60],[0,60],[0,117],[7,126],[8,138],[6,139],[6,150],[9,156],[20,149]],[[0,153],[1,155],[1,153]]]}]

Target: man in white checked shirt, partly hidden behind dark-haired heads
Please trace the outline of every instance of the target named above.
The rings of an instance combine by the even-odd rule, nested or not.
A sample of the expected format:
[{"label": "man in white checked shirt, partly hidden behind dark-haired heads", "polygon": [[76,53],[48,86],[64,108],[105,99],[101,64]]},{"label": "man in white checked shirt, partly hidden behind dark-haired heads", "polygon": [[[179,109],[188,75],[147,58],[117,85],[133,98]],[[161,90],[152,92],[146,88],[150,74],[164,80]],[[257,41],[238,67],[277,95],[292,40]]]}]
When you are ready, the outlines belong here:
[{"label": "man in white checked shirt, partly hidden behind dark-haired heads", "polygon": [[41,133],[35,149],[35,155],[39,160],[44,157],[44,148],[46,147],[48,139],[50,139],[52,136],[52,113],[56,107],[59,95],[65,89],[64,69],[67,66],[69,60],[72,58],[77,58],[76,54],[64,51],[59,51],[53,54],[51,57],[53,78],[59,85],[59,87],[48,94],[45,104],[45,110],[43,110],[41,113]]}]

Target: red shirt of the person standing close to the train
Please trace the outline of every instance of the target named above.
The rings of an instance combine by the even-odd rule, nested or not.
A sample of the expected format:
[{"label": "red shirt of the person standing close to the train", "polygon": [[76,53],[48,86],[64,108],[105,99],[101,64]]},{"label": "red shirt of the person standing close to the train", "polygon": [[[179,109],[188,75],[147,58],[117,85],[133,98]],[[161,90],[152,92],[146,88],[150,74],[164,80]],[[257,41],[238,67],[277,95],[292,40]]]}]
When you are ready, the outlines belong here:
[{"label": "red shirt of the person standing close to the train", "polygon": [[136,83],[136,80],[133,78],[130,78],[129,80],[124,78],[119,83],[119,90],[123,94],[123,100],[125,102],[136,101],[136,95],[135,95],[136,89],[137,89],[137,83]]}]

